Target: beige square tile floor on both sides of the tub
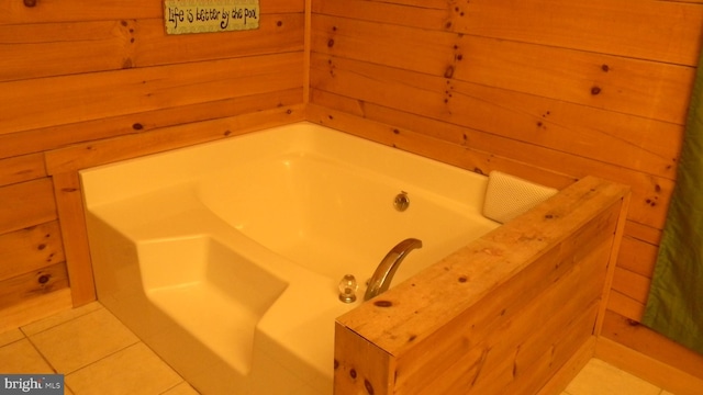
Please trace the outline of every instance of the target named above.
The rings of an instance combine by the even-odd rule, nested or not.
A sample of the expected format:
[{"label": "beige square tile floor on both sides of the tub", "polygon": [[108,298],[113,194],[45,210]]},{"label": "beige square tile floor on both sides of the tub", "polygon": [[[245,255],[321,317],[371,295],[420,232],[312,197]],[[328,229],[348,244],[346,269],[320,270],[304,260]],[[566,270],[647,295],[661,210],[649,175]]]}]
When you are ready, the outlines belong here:
[{"label": "beige square tile floor on both sides of the tub", "polygon": [[[65,374],[66,394],[198,394],[100,303],[0,334],[0,373]],[[672,395],[592,359],[562,395]]]}]

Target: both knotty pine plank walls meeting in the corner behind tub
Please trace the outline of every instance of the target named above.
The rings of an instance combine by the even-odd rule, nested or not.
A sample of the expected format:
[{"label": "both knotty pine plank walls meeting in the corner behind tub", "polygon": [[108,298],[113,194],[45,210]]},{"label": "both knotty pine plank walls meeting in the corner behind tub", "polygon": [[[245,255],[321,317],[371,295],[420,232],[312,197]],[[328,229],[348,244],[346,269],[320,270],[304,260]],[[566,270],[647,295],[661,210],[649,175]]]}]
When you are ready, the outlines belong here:
[{"label": "both knotty pine plank walls meeting in the corner behind tub", "polygon": [[161,1],[0,0],[0,327],[94,296],[77,169],[300,120],[309,61],[311,121],[476,171],[632,185],[604,336],[701,376],[637,323],[703,0],[309,0],[310,59],[305,0],[260,1],[258,31],[174,37]]}]

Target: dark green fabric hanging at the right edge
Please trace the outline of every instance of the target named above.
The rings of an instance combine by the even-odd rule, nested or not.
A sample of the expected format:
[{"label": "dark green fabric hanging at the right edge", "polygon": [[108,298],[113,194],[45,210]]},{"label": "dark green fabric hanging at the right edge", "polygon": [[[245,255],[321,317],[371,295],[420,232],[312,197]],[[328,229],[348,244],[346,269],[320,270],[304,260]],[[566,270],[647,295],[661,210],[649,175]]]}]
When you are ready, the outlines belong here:
[{"label": "dark green fabric hanging at the right edge", "polygon": [[703,353],[703,53],[643,324]]}]

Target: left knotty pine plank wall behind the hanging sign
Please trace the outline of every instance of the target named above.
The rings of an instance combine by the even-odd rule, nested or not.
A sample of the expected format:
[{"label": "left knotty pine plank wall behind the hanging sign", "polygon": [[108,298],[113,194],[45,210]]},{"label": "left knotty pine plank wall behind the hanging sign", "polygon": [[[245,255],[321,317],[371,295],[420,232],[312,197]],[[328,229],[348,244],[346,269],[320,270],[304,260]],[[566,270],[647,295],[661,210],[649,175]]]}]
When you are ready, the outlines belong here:
[{"label": "left knotty pine plank wall behind the hanging sign", "polygon": [[0,331],[94,298],[78,169],[302,110],[304,0],[260,0],[258,30],[181,36],[163,4],[0,0]]}]

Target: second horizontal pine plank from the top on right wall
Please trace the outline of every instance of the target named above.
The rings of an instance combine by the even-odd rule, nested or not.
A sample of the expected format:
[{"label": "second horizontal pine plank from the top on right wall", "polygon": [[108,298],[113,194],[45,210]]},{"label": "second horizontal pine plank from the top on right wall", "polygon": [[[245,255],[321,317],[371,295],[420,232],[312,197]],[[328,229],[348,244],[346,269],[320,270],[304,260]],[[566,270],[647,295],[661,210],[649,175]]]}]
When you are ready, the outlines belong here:
[{"label": "second horizontal pine plank from the top on right wall", "polygon": [[[678,124],[684,122],[695,72],[689,66],[344,18],[313,15],[312,23],[312,48],[321,55],[444,77],[449,90],[455,81],[472,82]],[[435,90],[442,98],[436,105],[445,90]]]}]

